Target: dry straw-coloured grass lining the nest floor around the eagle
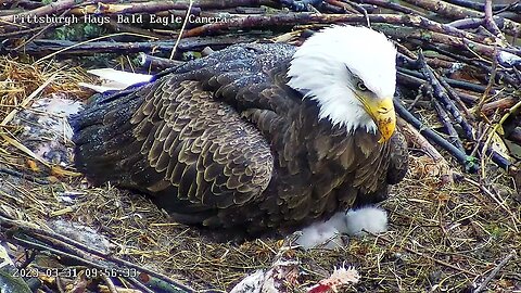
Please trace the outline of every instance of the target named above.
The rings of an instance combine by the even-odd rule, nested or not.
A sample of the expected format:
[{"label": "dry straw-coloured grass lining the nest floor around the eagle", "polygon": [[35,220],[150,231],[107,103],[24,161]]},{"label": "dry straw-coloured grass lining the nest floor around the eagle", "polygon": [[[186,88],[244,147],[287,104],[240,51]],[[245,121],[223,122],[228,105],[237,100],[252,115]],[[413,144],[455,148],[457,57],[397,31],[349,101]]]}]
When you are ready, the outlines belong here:
[{"label": "dry straw-coloured grass lining the nest floor around the eagle", "polygon": [[[0,119],[55,72],[8,59],[0,60]],[[46,92],[65,90],[85,98],[75,86],[81,76],[76,69],[63,71]],[[4,146],[1,161],[23,168],[23,160]],[[12,164],[15,161],[17,165]],[[509,178],[488,169],[488,175],[497,178],[491,178],[494,184],[486,189],[503,200],[499,205],[470,177],[441,187],[425,171],[432,162],[423,157],[412,161],[407,178],[393,188],[393,195],[383,204],[390,212],[389,232],[352,239],[348,246],[335,251],[285,252],[287,257],[302,262],[303,273],[295,291],[327,277],[333,267],[350,264],[363,276],[356,286],[359,292],[459,292],[481,282],[510,251],[521,251],[521,199],[510,190]],[[46,168],[28,173],[42,179],[50,177]],[[196,229],[170,222],[141,195],[111,187],[86,188],[80,178],[63,177],[54,183],[37,184],[17,176],[0,177],[3,214],[38,225],[61,218],[90,226],[110,239],[116,256],[199,290],[229,290],[246,273],[269,267],[282,245],[269,239],[215,243]],[[67,194],[71,202],[62,200]],[[494,292],[521,290],[520,271],[519,260],[509,262],[488,288]]]}]

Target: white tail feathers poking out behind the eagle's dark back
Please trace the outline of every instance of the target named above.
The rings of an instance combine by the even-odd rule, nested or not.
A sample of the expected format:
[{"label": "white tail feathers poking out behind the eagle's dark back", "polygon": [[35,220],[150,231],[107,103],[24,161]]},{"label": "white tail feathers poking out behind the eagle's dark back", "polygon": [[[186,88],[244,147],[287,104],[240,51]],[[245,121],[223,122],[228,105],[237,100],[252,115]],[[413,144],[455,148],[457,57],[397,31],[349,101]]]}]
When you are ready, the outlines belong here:
[{"label": "white tail feathers poking out behind the eagle's dark back", "polygon": [[127,73],[113,68],[91,69],[88,71],[88,73],[100,77],[104,81],[101,86],[86,82],[79,82],[79,86],[92,89],[98,92],[123,90],[140,82],[149,82],[150,80],[152,80],[153,77],[152,75],[148,74]]}]

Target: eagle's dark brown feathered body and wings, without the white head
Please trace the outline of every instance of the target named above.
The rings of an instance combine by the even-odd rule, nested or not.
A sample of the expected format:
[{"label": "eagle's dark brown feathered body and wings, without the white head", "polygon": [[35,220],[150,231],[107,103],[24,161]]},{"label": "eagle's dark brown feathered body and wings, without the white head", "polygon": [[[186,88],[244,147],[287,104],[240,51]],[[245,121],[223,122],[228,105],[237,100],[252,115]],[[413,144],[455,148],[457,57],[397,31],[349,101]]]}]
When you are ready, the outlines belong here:
[{"label": "eagle's dark brown feathered body and wings, without the white head", "polygon": [[290,231],[386,196],[407,168],[399,133],[347,133],[287,84],[294,48],[242,44],[102,98],[76,122],[96,183],[153,195],[187,224]]}]

